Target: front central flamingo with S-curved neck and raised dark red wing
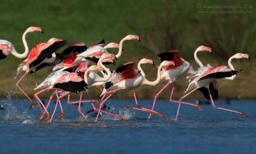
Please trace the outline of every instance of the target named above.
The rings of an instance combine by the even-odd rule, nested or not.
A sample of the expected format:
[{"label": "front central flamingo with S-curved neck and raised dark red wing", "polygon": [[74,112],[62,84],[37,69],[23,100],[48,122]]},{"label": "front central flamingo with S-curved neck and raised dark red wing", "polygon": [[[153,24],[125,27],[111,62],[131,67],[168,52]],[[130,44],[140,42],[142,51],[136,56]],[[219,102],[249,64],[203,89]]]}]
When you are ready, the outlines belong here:
[{"label": "front central flamingo with S-curved neck and raised dark red wing", "polygon": [[[143,58],[143,59],[141,59],[141,61],[145,61],[143,63],[152,63],[152,60],[150,60],[150,59],[144,59]],[[103,100],[103,98],[106,95],[108,95],[108,93],[110,93],[110,94],[107,98],[105,98],[105,100],[103,100],[100,103],[100,108],[99,109],[101,109],[101,106],[104,104],[104,102],[106,102],[106,100],[108,100],[108,98],[111,95],[113,95],[116,91],[122,90],[122,89],[128,89],[128,90],[131,90],[133,92],[134,100],[136,102],[137,108],[127,107],[127,105],[125,104],[124,93],[122,91],[122,96],[123,96],[124,104],[125,104],[126,108],[146,111],[146,112],[149,112],[150,114],[157,113],[159,116],[163,116],[163,114],[160,114],[159,112],[150,111],[148,109],[140,107],[138,105],[134,89],[138,88],[139,86],[145,85],[145,84],[150,85],[150,86],[156,86],[156,84],[158,84],[159,81],[160,81],[160,77],[161,77],[160,76],[160,71],[161,71],[161,69],[166,67],[166,66],[169,66],[169,65],[175,66],[175,63],[173,63],[173,61],[163,61],[161,63],[161,65],[159,66],[159,68],[157,70],[157,79],[156,79],[156,81],[148,81],[145,77],[143,77],[143,75],[141,75],[141,73],[134,71],[134,69],[133,69],[134,62],[125,63],[124,65],[119,66],[118,68],[116,68],[116,70],[113,73],[111,79],[108,82],[106,82],[106,84],[105,84],[105,88],[103,89],[102,94],[100,95],[100,96],[104,95],[101,100]],[[138,67],[138,68],[141,69],[140,67]],[[99,113],[100,113],[100,111],[98,112],[97,118],[99,117]],[[97,118],[96,118],[96,121],[97,121]]]}]

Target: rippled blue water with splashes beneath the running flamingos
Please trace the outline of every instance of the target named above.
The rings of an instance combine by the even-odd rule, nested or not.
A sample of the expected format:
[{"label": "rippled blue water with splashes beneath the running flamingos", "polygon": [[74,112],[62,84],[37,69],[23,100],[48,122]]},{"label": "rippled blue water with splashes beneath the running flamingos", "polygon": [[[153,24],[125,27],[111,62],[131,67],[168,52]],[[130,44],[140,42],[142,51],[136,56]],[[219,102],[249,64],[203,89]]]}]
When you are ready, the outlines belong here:
[{"label": "rippled blue water with splashes beneath the running flamingos", "polygon": [[[47,102],[45,100],[45,102]],[[141,107],[150,108],[152,100],[138,100]],[[194,103],[195,100],[187,100]],[[166,117],[152,116],[147,112],[125,109],[122,100],[109,100],[111,113],[128,122],[102,114],[95,123],[91,114],[84,118],[77,106],[61,100],[65,112],[62,119],[58,107],[51,125],[39,123],[40,109],[28,109],[27,100],[13,100],[11,96],[0,100],[0,153],[256,153],[256,102],[232,100],[219,107],[244,112],[239,114],[201,105],[205,110],[181,105],[175,121],[177,104],[158,100],[156,111]],[[134,100],[127,100],[134,107]],[[54,109],[54,103],[49,112]],[[83,104],[86,112],[90,104]]]}]

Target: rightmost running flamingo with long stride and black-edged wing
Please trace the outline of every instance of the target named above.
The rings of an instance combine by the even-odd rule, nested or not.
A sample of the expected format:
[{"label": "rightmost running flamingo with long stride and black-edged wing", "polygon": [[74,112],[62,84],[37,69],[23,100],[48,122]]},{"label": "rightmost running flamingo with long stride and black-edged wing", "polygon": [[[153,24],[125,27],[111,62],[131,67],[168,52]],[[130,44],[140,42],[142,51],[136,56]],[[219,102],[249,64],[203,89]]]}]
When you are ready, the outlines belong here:
[{"label": "rightmost running flamingo with long stride and black-edged wing", "polygon": [[[238,73],[235,69],[234,66],[231,64],[232,59],[241,59],[241,58],[247,58],[250,59],[248,54],[235,54],[234,56],[230,57],[230,59],[228,59],[228,66],[216,66],[216,67],[212,67],[211,65],[207,65],[207,66],[201,66],[200,68],[198,68],[198,70],[193,74],[189,76],[189,86],[186,89],[185,93],[187,91],[189,91],[189,93],[187,93],[186,95],[182,96],[179,99],[179,107],[177,110],[177,115],[175,120],[177,121],[178,115],[179,115],[179,109],[180,109],[180,102],[186,98],[186,96],[188,96],[189,94],[193,93],[193,91],[195,91],[198,88],[202,88],[205,87],[208,90],[209,96],[211,98],[211,102],[212,102],[212,107],[214,109],[220,109],[220,110],[224,110],[224,111],[230,111],[230,112],[235,112],[237,114],[240,114],[241,116],[244,116],[245,118],[249,118],[246,114],[244,114],[243,112],[237,112],[237,111],[232,111],[230,109],[224,109],[221,107],[216,107],[216,105],[214,105],[214,102],[212,100],[212,95],[211,95],[211,91],[209,89],[209,84],[214,81],[215,79],[223,79],[226,81],[232,81],[234,80],[234,78],[236,77],[236,74]],[[199,61],[199,60],[198,60]]]}]

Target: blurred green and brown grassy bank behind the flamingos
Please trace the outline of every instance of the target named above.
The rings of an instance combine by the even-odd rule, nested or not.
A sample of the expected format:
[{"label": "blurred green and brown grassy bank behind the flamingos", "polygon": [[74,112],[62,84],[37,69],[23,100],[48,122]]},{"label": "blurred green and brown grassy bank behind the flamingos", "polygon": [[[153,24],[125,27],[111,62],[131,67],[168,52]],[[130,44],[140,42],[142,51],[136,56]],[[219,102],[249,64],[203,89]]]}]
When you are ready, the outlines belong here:
[{"label": "blurred green and brown grassy bank behind the flamingos", "polygon": [[[194,69],[198,67],[193,58],[196,47],[205,45],[211,47],[214,54],[201,52],[198,57],[202,63],[212,66],[227,65],[230,56],[237,52],[250,55],[252,61],[235,60],[237,70],[243,69],[235,81],[218,83],[220,98],[230,98],[240,95],[241,98],[255,99],[255,1],[3,1],[0,5],[1,24],[0,38],[9,40],[18,52],[23,52],[22,33],[29,26],[44,29],[45,34],[30,33],[27,36],[29,49],[49,38],[68,40],[68,45],[84,42],[88,47],[98,43],[102,38],[108,42],[119,42],[128,34],[140,36],[142,42],[132,40],[124,43],[124,53],[116,61],[116,66],[129,61],[139,61],[148,58],[159,64],[157,54],[168,50],[180,50],[182,58],[191,63]],[[216,6],[217,8],[214,8]],[[218,8],[218,6],[220,6]],[[223,6],[225,6],[223,8]],[[227,8],[232,6],[233,8]],[[234,8],[242,6],[242,8]],[[209,8],[211,7],[211,8]],[[213,8],[212,8],[213,7]],[[220,12],[227,13],[220,13]],[[242,12],[241,12],[242,11]],[[228,13],[229,12],[229,13]],[[68,46],[67,45],[67,46]],[[61,52],[60,49],[58,52]],[[116,50],[109,50],[116,53]],[[18,91],[15,87],[17,66],[24,59],[14,56],[0,61],[0,97],[6,98],[6,91]],[[115,69],[116,66],[111,66]],[[148,79],[156,78],[156,67],[145,65]],[[44,81],[51,73],[51,68],[36,72],[38,82]],[[29,95],[33,95],[35,84],[33,75],[26,77],[20,86]],[[155,88],[143,86],[138,88],[138,98],[152,99],[166,84],[161,83]],[[177,82],[174,98],[180,98],[188,86],[184,78]],[[164,90],[159,98],[167,99],[170,89]],[[92,88],[90,92],[97,98],[100,92]],[[149,94],[149,95],[148,95]],[[44,94],[42,96],[47,96]],[[120,98],[116,95],[114,98]],[[125,93],[132,98],[132,93]],[[23,95],[17,93],[13,97]],[[76,95],[74,95],[76,98]],[[195,93],[189,98],[203,98],[201,93]]]}]

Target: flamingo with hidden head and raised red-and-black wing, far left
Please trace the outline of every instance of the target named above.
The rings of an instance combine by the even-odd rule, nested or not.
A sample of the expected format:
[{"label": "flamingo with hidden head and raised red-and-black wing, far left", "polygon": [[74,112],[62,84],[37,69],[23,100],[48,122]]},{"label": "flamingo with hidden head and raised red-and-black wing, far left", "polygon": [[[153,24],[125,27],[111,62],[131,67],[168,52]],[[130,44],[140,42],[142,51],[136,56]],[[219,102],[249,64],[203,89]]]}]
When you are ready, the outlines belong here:
[{"label": "flamingo with hidden head and raised red-and-black wing, far left", "polygon": [[[62,46],[66,44],[66,41],[58,39],[58,38],[51,38],[47,43],[40,43],[36,45],[33,49],[31,49],[31,52],[28,55],[28,58],[25,59],[17,69],[17,77],[19,77],[22,73],[22,77],[20,77],[19,81],[16,83],[17,88],[20,89],[22,93],[28,98],[28,100],[31,102],[29,109],[33,105],[32,100],[29,98],[28,95],[19,87],[19,82],[25,77],[25,75],[31,71],[36,72],[36,67],[44,64],[44,63],[52,63],[54,61],[56,54],[56,50],[60,49]],[[36,76],[35,76],[36,81]],[[37,86],[37,83],[36,83]],[[40,107],[41,108],[41,107]],[[41,108],[42,111],[42,108]]]}]

